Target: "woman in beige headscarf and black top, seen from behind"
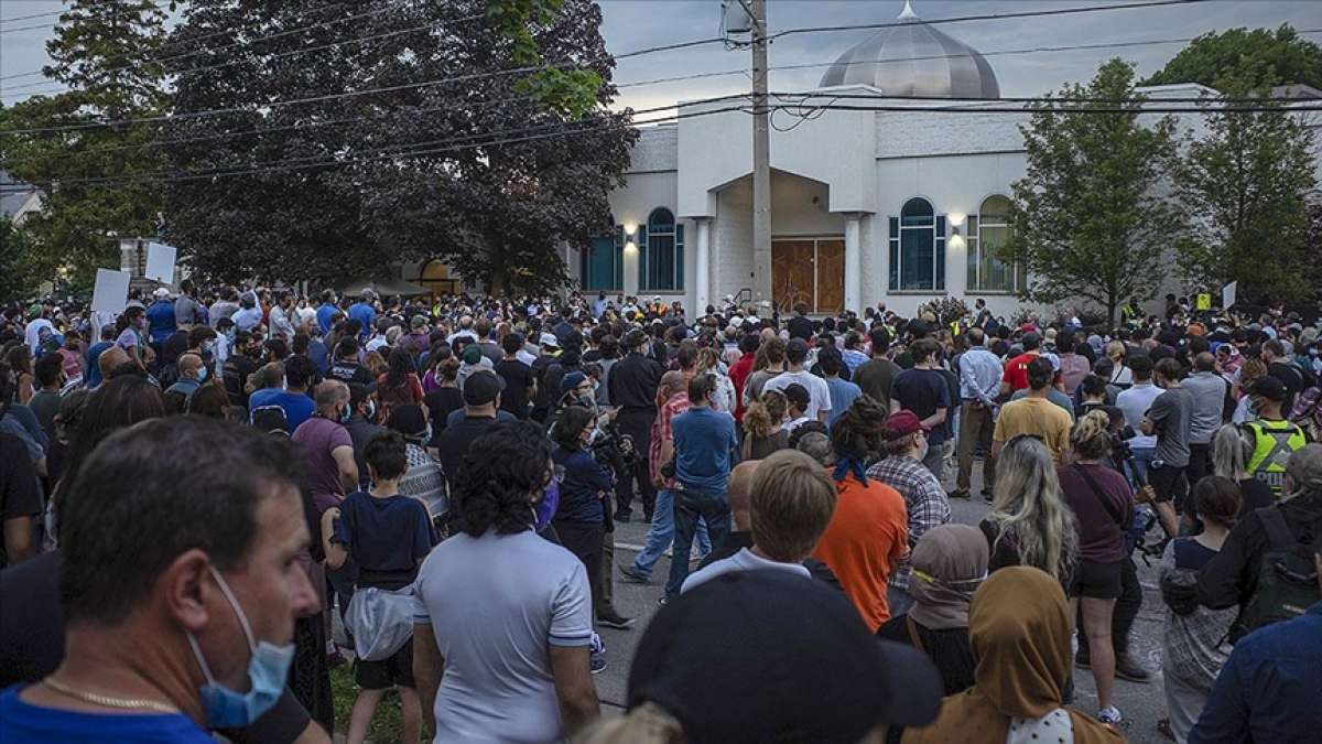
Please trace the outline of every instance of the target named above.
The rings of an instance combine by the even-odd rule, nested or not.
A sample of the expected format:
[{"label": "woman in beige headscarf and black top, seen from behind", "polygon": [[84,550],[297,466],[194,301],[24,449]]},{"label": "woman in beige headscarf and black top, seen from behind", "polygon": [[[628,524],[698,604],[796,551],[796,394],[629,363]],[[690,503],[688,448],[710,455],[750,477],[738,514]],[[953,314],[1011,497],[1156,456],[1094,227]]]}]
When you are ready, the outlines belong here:
[{"label": "woman in beige headscarf and black top, seen from behind", "polygon": [[[968,524],[933,527],[914,547],[910,567],[915,604],[882,625],[876,637],[923,651],[941,674],[945,695],[962,692],[973,686],[969,601],[988,577],[988,541]],[[887,740],[899,741],[902,733],[892,728]]]}]

